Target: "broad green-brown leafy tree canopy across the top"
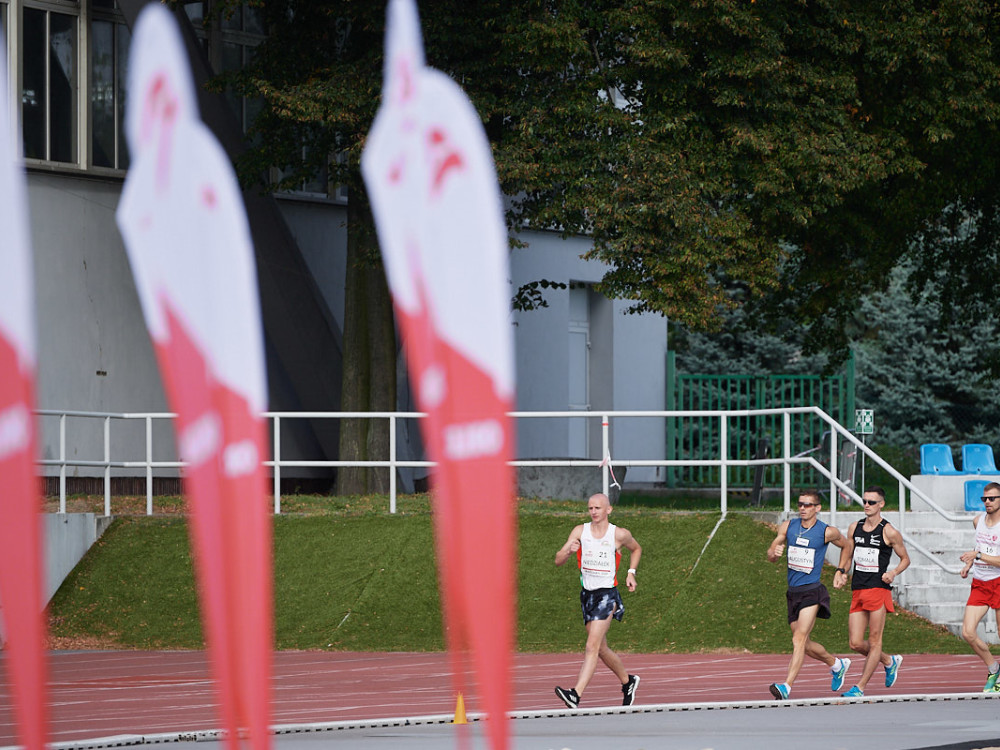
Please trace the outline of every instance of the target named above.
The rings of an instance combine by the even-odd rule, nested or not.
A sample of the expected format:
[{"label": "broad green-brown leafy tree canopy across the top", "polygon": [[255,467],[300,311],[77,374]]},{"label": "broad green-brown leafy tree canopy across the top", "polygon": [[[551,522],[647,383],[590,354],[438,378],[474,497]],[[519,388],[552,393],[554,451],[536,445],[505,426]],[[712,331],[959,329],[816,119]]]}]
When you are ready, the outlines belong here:
[{"label": "broad green-brown leafy tree canopy across the top", "polygon": [[[363,200],[384,7],[262,0],[244,165]],[[427,0],[429,64],[478,108],[511,228],[587,233],[609,296],[699,327],[740,280],[771,321],[842,345],[909,240],[992,185],[998,9],[983,0]],[[303,152],[301,144],[308,144]],[[306,154],[306,161],[302,154]],[[303,172],[300,171],[298,176]],[[990,205],[992,208],[992,203]]]}]

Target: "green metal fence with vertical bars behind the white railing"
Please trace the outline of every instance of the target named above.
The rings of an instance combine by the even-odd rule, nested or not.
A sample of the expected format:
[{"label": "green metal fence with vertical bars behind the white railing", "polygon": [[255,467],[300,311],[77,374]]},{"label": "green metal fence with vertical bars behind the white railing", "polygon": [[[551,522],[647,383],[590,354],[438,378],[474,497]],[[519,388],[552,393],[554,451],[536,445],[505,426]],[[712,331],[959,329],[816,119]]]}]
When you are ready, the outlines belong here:
[{"label": "green metal fence with vertical bars behind the white railing", "polygon": [[[839,375],[695,375],[678,373],[674,353],[667,353],[668,411],[729,411],[735,409],[783,409],[818,406],[842,425],[854,424],[854,360],[849,359]],[[751,459],[761,452],[781,453],[781,415],[730,417],[727,425],[727,455]],[[813,446],[819,460],[829,461],[829,434],[817,420],[792,422],[791,444]],[[709,459],[719,455],[718,417],[685,417],[667,420],[667,458]],[[667,484],[672,487],[717,487],[719,467],[692,466],[670,469]],[[730,487],[752,487],[752,466],[729,468]],[[797,473],[796,473],[797,472]],[[815,470],[796,467],[792,480],[800,487],[814,485]],[[782,483],[780,467],[767,467],[763,486]]]}]

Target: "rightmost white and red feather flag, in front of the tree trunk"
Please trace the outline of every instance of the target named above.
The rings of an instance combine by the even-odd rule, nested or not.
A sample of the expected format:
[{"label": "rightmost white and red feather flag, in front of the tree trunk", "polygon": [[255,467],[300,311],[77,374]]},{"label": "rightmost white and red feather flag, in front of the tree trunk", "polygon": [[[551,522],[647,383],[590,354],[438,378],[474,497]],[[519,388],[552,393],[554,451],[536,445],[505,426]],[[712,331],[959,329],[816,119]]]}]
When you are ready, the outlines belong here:
[{"label": "rightmost white and red feather flag, in front of the tree trunk", "polygon": [[508,245],[482,122],[424,62],[416,5],[387,11],[382,104],[362,156],[433,475],[456,687],[471,652],[494,748],[506,748],[514,647],[514,402]]}]

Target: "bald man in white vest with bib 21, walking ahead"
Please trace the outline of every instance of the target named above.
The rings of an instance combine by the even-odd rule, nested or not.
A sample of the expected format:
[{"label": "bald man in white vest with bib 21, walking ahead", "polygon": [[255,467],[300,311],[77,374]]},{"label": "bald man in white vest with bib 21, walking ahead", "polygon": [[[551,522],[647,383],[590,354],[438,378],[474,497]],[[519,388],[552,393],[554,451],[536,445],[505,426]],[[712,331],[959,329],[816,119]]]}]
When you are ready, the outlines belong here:
[{"label": "bald man in white vest with bib 21, walking ahead", "polygon": [[587,501],[587,512],[590,514],[590,523],[574,528],[566,544],[556,552],[556,565],[562,565],[573,556],[577,558],[580,566],[580,606],[583,610],[584,627],[587,628],[587,648],[576,685],[568,690],[557,687],[556,695],[568,708],[577,708],[580,696],[597,669],[597,659],[600,658],[621,680],[622,705],[631,706],[639,687],[639,678],[630,675],[618,654],[608,647],[607,634],[611,618],[620,622],[625,612],[615,575],[621,559],[621,548],[624,547],[630,553],[625,586],[629,591],[635,591],[635,571],[639,567],[639,558],[642,557],[642,547],[628,529],[608,521],[611,501],[607,495],[592,495]]}]

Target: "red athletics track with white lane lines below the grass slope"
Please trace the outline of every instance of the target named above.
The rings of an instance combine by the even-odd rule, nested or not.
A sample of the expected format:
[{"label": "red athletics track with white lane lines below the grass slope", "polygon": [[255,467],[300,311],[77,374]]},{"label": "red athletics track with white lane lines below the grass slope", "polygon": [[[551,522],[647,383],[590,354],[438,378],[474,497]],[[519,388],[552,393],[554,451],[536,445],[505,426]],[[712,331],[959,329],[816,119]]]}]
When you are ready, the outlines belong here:
[{"label": "red athletics track with white lane lines below the grass slope", "polygon": [[[787,654],[622,654],[642,682],[636,704],[769,700]],[[572,686],[581,654],[518,654],[512,711],[562,708],[557,684]],[[447,714],[455,696],[443,653],[279,651],[274,655],[274,725]],[[218,729],[215,697],[200,651],[61,651],[49,658],[52,742]],[[855,659],[844,689],[860,677]],[[16,743],[0,653],[0,747]],[[974,693],[986,669],[974,655],[904,655],[890,690],[876,671],[868,696]],[[806,660],[792,698],[830,698],[829,672]],[[581,708],[620,705],[618,681],[603,667]],[[467,711],[478,711],[474,696]]]}]

